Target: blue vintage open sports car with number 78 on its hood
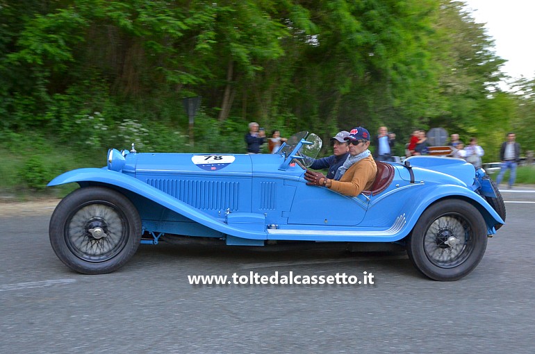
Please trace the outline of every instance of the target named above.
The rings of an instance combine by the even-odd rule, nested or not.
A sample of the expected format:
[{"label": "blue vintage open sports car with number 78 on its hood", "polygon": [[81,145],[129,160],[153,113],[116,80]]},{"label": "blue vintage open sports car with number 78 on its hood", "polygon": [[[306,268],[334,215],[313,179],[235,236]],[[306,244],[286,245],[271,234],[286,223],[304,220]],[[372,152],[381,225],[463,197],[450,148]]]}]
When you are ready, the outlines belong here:
[{"label": "blue vintage open sports car with number 78 on its hood", "polygon": [[76,169],[49,183],[80,185],[53,212],[51,245],[68,267],[87,274],[115,271],[140,243],[164,239],[397,246],[425,276],[456,280],[475,269],[487,237],[504,224],[493,181],[455,158],[378,162],[371,190],[356,197],[306,185],[306,165],[321,144],[300,132],[269,155],[110,149],[107,167]]}]

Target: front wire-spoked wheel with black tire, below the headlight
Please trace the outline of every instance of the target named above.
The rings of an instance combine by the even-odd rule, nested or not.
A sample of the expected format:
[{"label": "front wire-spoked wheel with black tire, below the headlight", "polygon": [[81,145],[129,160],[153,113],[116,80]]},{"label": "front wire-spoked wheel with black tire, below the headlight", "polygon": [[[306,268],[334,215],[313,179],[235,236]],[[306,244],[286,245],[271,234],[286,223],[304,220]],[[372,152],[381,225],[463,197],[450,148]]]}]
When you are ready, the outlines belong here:
[{"label": "front wire-spoked wheel with black tire, below the headlight", "polygon": [[110,273],[137,251],[141,219],[126,196],[104,187],[82,187],[54,210],[50,243],[58,258],[84,274]]}]

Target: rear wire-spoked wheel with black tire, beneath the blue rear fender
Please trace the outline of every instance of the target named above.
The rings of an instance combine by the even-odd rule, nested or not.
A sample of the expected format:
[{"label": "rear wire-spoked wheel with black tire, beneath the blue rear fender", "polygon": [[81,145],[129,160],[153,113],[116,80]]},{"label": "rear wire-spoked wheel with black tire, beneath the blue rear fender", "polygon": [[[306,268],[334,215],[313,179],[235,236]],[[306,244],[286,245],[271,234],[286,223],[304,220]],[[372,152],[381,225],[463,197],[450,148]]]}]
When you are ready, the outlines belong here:
[{"label": "rear wire-spoked wheel with black tire, beneath the blue rear fender", "polygon": [[485,220],[475,206],[458,199],[439,201],[418,219],[407,240],[407,253],[425,276],[458,280],[482,260],[486,231]]}]

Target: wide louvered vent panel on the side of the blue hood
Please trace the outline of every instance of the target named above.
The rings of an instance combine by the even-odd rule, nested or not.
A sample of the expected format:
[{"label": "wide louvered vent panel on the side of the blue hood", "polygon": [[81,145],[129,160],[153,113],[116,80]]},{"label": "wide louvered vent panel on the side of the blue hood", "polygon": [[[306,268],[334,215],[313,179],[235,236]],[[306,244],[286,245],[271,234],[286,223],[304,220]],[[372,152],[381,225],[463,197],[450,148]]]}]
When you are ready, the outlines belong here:
[{"label": "wide louvered vent panel on the side of the blue hood", "polygon": [[197,209],[238,211],[238,182],[151,178],[147,184]]}]

